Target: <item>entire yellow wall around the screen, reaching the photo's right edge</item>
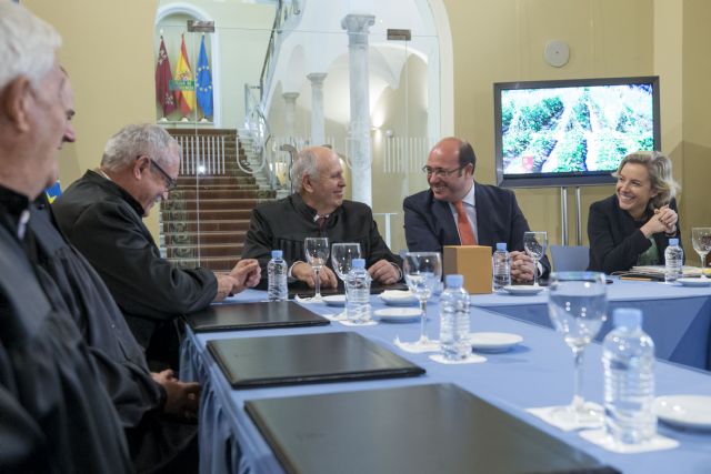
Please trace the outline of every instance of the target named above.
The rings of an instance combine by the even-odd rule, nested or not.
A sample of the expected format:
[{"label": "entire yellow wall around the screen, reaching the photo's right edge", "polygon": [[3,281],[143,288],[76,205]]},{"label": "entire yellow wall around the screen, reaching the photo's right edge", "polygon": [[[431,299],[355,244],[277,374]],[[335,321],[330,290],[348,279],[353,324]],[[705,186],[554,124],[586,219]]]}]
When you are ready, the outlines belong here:
[{"label": "entire yellow wall around the screen, reaching the photo's right edge", "polygon": [[[479,157],[477,179],[494,181],[493,98],[497,81],[660,75],[662,152],[682,185],[680,218],[687,254],[692,226],[711,225],[711,2],[704,0],[444,0],[454,49],[454,124]],[[548,65],[549,40],[570,46],[570,61]],[[591,202],[613,186],[582,189],[583,243]],[[560,243],[560,194],[517,190],[531,228]],[[569,232],[574,239],[572,191]]]}]

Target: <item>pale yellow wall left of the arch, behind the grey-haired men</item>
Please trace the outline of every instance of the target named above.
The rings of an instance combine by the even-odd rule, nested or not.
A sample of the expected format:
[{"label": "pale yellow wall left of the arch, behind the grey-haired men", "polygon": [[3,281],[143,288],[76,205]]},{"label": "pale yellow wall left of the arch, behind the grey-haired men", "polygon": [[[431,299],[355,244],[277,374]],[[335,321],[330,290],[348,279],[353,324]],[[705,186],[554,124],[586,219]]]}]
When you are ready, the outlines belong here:
[{"label": "pale yellow wall left of the arch, behind the grey-haired men", "polygon": [[[61,4],[60,4],[61,3]],[[63,38],[60,60],[74,89],[77,143],[60,155],[62,188],[96,168],[107,139],[127,123],[154,122],[157,0],[22,0]],[[158,213],[147,224],[156,234]]]}]

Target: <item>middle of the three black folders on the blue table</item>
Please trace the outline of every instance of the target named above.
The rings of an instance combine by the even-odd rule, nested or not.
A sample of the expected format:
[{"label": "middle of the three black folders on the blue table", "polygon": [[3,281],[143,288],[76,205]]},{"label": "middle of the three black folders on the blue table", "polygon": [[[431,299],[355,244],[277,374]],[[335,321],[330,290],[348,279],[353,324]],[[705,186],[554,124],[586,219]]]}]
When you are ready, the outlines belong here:
[{"label": "middle of the three black folders on the blue table", "polygon": [[234,389],[413,376],[424,373],[353,332],[208,341]]}]

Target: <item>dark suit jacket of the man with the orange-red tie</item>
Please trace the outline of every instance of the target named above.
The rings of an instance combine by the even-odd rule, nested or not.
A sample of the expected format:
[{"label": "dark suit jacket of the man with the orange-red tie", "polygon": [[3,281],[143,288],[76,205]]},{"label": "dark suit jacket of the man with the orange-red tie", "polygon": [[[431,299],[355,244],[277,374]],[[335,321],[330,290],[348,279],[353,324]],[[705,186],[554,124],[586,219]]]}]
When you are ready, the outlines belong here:
[{"label": "dark suit jacket of the man with the orange-red tie", "polygon": [[[477,233],[479,244],[495,250],[497,242],[505,242],[510,251],[523,251],[525,221],[513,191],[474,182]],[[411,252],[441,252],[443,245],[461,245],[457,222],[449,203],[438,201],[431,190],[405,198],[404,235]],[[543,276],[550,272],[548,258],[541,259]]]}]

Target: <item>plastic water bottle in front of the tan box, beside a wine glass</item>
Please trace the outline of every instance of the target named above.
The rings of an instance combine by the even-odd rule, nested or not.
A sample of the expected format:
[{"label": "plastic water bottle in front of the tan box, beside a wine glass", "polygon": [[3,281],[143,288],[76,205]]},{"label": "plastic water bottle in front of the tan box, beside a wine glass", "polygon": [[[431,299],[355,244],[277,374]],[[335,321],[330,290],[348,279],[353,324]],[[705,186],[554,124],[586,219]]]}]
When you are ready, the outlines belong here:
[{"label": "plastic water bottle in front of the tan box, beside a wine glass", "polygon": [[469,342],[469,293],[462,288],[462,275],[447,275],[445,289],[440,295],[440,347],[444,359],[467,359]]}]

